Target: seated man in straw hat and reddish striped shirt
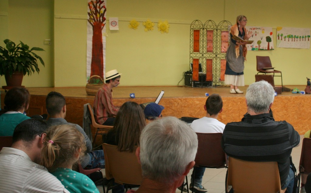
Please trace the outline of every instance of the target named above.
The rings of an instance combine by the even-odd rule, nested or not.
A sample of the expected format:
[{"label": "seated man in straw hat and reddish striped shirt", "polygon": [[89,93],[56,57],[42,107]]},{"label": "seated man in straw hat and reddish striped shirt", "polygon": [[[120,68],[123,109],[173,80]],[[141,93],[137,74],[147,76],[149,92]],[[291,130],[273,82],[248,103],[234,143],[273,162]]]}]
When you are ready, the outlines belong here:
[{"label": "seated man in straw hat and reddish striped shirt", "polygon": [[106,73],[105,84],[100,88],[94,99],[93,109],[95,120],[102,125],[114,125],[114,116],[117,115],[120,107],[112,104],[112,88],[120,84],[121,74],[117,70],[110,70]]}]

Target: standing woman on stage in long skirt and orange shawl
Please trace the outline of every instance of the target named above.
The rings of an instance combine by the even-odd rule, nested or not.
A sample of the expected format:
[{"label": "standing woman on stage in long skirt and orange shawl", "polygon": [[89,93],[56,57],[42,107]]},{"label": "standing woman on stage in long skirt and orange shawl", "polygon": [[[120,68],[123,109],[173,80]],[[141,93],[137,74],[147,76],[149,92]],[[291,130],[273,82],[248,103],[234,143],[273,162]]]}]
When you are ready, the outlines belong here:
[{"label": "standing woman on stage in long skirt and orange shawl", "polygon": [[226,71],[225,71],[225,84],[230,84],[231,94],[242,94],[239,86],[244,86],[244,60],[247,53],[246,42],[239,42],[232,37],[238,36],[244,40],[248,40],[252,36],[252,32],[249,31],[246,34],[247,18],[244,15],[239,15],[236,18],[236,24],[230,29],[230,45],[226,53]]}]

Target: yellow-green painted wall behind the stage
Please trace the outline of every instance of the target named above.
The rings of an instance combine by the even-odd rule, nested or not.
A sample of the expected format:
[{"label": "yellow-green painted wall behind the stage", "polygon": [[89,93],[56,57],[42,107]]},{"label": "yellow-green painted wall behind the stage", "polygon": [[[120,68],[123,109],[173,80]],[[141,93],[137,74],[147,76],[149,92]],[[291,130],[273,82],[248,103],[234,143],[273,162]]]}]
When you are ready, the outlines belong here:
[{"label": "yellow-green painted wall behind the stage", "polygon": [[[0,0],[0,24],[8,26],[0,28],[1,39],[25,39],[28,45],[45,50],[46,45],[38,36],[46,34],[49,37],[45,39],[52,39],[49,57],[44,56],[50,65],[41,68],[39,75],[26,76],[23,85],[85,86],[86,5],[87,0]],[[119,30],[110,31],[107,24],[106,71],[117,69],[123,73],[121,86],[177,85],[183,72],[189,70],[189,34],[193,20],[234,23],[236,16],[243,14],[249,26],[272,27],[276,46],[277,26],[311,28],[310,7],[309,0],[108,0],[107,19],[118,17]],[[128,28],[132,19],[140,21],[137,30]],[[152,32],[143,30],[142,21],[147,19],[155,22]],[[169,21],[168,34],[157,31],[158,20]],[[49,22],[42,25],[44,21]],[[255,81],[256,55],[270,56],[273,66],[282,71],[285,85],[305,85],[305,77],[311,76],[310,49],[275,47],[273,51],[248,52],[244,70],[246,85]],[[5,85],[3,77],[0,84]]]}]

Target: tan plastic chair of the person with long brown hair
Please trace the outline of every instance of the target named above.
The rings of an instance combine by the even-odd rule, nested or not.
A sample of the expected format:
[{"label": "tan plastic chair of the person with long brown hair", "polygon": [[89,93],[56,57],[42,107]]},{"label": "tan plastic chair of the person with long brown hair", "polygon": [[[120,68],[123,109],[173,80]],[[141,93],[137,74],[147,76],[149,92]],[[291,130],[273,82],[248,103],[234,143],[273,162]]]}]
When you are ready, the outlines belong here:
[{"label": "tan plastic chair of the person with long brown hair", "polygon": [[[137,148],[137,147],[136,147]],[[105,155],[105,173],[106,178],[114,178],[114,182],[125,185],[128,191],[128,185],[140,185],[142,181],[142,168],[138,163],[135,150],[130,153],[128,151],[118,151],[118,146],[103,143]],[[115,186],[107,186],[107,193]]]}]

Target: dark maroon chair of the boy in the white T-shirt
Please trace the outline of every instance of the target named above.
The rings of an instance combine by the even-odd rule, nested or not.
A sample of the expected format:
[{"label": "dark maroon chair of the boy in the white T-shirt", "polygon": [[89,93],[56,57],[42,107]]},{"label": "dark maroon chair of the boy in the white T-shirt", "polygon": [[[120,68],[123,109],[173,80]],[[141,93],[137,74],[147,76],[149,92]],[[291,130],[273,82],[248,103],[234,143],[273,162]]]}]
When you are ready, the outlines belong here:
[{"label": "dark maroon chair of the boy in the white T-shirt", "polygon": [[[205,168],[226,167],[225,152],[221,148],[221,137],[222,133],[197,133],[198,147],[197,147],[197,155],[194,159],[195,165],[193,167],[193,176],[195,175],[196,167],[205,167]],[[187,177],[186,181],[188,181]],[[188,182],[186,182],[186,184],[188,191]],[[192,184],[194,184],[194,177],[192,178]]]}]

